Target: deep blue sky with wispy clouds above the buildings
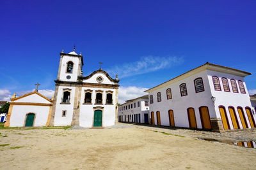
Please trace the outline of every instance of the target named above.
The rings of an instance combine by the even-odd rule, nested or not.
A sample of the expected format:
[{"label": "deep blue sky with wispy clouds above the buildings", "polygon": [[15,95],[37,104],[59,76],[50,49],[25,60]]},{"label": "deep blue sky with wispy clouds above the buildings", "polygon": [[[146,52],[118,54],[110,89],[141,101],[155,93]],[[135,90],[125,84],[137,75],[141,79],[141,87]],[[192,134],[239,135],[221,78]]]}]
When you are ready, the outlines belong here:
[{"label": "deep blue sky with wispy clouds above the buildings", "polygon": [[84,56],[84,75],[102,61],[112,77],[118,73],[124,99],[207,61],[252,73],[245,80],[256,93],[255,5],[234,0],[1,1],[0,99],[33,90],[36,82],[52,93],[60,52],[71,52],[74,43]]}]

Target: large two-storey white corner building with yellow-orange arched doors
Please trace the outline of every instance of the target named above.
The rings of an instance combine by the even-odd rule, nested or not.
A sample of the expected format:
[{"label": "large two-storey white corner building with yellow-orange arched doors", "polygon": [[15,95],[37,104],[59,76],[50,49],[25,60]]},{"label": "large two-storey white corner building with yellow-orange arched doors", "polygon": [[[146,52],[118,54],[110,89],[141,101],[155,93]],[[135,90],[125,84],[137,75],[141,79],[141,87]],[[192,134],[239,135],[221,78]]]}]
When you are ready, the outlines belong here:
[{"label": "large two-storey white corner building with yellow-orange arched doors", "polygon": [[244,83],[250,74],[207,62],[148,89],[152,123],[213,131],[255,127]]}]

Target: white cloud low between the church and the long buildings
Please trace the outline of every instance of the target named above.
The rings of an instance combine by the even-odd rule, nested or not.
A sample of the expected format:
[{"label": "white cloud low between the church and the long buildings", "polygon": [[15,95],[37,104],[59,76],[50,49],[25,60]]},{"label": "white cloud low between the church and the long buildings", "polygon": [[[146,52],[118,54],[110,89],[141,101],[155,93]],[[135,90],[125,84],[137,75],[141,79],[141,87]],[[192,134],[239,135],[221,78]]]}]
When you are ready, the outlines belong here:
[{"label": "white cloud low between the church and the long buildings", "polygon": [[136,97],[144,96],[148,93],[144,92],[148,90],[145,87],[119,87],[118,89],[118,103],[123,104],[129,99],[134,99]]}]

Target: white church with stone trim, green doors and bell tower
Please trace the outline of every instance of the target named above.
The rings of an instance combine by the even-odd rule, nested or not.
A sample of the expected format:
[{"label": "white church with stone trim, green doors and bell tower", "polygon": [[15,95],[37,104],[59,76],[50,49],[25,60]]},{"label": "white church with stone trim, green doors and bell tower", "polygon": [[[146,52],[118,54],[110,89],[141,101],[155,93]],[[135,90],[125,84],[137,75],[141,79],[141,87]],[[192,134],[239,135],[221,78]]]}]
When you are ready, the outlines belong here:
[{"label": "white church with stone trim, green doors and bell tower", "polygon": [[[102,64],[100,62],[100,64]],[[83,55],[60,53],[52,99],[35,92],[14,94],[4,127],[77,125],[108,127],[117,122],[118,76],[100,69],[83,76]]]}]

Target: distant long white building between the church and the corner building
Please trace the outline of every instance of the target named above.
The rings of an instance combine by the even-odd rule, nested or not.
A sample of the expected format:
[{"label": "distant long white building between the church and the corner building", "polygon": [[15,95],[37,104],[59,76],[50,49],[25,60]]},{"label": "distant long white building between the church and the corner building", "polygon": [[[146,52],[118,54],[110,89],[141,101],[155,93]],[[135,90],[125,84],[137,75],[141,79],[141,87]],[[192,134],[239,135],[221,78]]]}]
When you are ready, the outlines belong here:
[{"label": "distant long white building between the church and the corner building", "polygon": [[148,123],[148,95],[126,101],[118,106],[119,122]]}]

